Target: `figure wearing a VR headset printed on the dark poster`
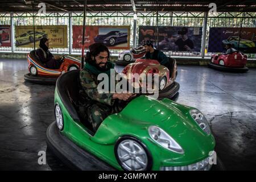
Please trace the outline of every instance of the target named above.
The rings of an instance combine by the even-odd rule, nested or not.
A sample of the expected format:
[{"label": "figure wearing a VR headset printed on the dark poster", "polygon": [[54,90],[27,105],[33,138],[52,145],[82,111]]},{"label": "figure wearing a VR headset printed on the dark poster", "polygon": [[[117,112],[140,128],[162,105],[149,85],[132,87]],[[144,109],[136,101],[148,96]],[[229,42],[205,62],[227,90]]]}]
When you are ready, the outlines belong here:
[{"label": "figure wearing a VR headset printed on the dark poster", "polygon": [[178,32],[179,39],[176,40],[175,44],[179,47],[179,51],[193,51],[194,44],[191,39],[187,36],[188,28],[183,27],[181,31]]}]

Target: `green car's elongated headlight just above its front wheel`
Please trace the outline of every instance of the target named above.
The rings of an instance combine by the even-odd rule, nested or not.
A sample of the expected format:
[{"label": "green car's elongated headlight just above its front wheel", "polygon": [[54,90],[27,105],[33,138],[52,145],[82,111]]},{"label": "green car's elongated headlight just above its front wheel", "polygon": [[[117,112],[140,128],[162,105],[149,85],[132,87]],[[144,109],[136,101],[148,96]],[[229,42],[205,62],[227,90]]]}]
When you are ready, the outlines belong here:
[{"label": "green car's elongated headlight just above its front wheel", "polygon": [[167,150],[179,154],[184,153],[180,145],[170,135],[168,135],[164,130],[160,129],[159,127],[150,126],[148,128],[148,133],[156,143],[160,144],[160,146],[166,148]]}]

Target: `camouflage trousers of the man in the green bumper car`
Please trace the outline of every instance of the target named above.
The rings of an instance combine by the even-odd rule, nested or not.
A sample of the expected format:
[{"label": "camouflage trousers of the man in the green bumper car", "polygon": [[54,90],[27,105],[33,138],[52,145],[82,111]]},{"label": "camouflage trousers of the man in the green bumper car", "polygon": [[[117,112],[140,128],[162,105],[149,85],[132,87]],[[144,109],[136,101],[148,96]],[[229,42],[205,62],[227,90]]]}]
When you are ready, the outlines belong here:
[{"label": "camouflage trousers of the man in the green bumper car", "polygon": [[114,113],[119,113],[126,105],[127,102],[118,100],[113,106],[102,104],[93,104],[89,106],[87,116],[90,124],[93,127],[93,131],[97,131],[98,127],[106,117]]}]

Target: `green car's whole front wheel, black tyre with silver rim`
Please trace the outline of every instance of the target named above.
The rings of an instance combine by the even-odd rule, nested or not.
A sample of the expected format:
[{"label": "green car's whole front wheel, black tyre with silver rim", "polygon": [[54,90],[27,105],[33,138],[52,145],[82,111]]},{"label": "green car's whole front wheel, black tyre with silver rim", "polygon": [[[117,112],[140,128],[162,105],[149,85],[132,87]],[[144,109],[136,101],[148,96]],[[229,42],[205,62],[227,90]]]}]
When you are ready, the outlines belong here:
[{"label": "green car's whole front wheel, black tyre with silver rim", "polygon": [[122,137],[115,144],[115,158],[125,171],[148,171],[152,157],[147,147],[134,137]]}]

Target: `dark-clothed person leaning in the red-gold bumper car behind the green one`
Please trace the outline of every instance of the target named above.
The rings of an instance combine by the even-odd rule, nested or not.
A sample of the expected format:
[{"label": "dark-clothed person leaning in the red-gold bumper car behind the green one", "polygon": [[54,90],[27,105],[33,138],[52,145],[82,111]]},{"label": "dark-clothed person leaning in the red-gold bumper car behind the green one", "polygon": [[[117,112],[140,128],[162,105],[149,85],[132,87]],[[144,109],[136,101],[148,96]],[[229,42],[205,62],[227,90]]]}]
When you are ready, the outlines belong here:
[{"label": "dark-clothed person leaning in the red-gold bumper car behind the green one", "polygon": [[154,59],[167,68],[171,68],[168,57],[160,50],[155,49],[151,40],[145,40],[143,46],[146,51],[145,59]]}]

